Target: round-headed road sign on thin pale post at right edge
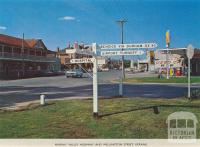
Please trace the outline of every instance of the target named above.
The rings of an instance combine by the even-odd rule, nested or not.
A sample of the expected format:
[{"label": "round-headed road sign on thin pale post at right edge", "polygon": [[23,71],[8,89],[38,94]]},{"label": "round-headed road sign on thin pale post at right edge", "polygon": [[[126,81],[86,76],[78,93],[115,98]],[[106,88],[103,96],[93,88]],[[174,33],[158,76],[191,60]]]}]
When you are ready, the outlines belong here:
[{"label": "round-headed road sign on thin pale post at right edge", "polygon": [[187,58],[188,58],[188,98],[191,97],[190,94],[190,87],[191,87],[191,83],[190,83],[190,59],[192,59],[193,55],[194,55],[194,48],[193,46],[190,44],[187,47],[186,50],[186,54],[187,54]]}]

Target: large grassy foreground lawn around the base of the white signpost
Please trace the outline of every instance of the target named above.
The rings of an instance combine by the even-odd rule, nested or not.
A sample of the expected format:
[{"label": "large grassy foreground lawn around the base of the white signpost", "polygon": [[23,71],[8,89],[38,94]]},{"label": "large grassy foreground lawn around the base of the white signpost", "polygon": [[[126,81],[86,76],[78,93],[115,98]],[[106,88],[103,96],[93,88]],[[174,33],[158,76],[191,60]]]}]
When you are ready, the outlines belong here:
[{"label": "large grassy foreground lawn around the base of the white signpost", "polygon": [[[176,111],[193,112],[200,120],[200,107],[153,105],[196,105],[200,100],[117,98],[99,101],[100,115],[92,117],[92,100],[66,100],[46,106],[33,104],[27,110],[0,112],[0,138],[167,138],[167,116]],[[141,110],[129,111],[140,108]],[[117,113],[110,115],[112,113]],[[197,124],[200,138],[200,123]]]}]

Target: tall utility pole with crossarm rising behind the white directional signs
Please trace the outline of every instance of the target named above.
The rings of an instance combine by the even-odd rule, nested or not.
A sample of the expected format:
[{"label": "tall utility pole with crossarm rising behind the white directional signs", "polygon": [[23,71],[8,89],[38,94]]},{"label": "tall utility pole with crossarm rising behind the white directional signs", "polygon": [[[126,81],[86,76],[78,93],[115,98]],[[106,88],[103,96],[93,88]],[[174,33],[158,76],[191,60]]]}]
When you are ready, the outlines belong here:
[{"label": "tall utility pole with crossarm rising behind the white directional signs", "polygon": [[[121,44],[124,44],[124,23],[127,22],[126,20],[124,19],[121,19],[121,20],[117,20],[116,21],[120,27],[121,27]],[[122,51],[124,49],[122,48]],[[119,95],[120,96],[123,96],[123,80],[125,78],[125,72],[124,72],[124,55],[121,56],[122,58],[122,74],[121,74],[121,83],[119,85]]]}]

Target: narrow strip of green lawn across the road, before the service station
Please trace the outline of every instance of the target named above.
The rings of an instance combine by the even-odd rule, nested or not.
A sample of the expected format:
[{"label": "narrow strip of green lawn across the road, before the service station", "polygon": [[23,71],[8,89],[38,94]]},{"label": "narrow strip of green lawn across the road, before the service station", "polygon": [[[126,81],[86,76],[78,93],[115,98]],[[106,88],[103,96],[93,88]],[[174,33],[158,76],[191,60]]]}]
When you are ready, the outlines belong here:
[{"label": "narrow strip of green lawn across the road, before the service station", "polygon": [[[128,83],[187,83],[187,77],[170,77],[169,79],[158,77],[137,77],[124,80]],[[200,83],[200,77],[191,77],[191,83]]]}]

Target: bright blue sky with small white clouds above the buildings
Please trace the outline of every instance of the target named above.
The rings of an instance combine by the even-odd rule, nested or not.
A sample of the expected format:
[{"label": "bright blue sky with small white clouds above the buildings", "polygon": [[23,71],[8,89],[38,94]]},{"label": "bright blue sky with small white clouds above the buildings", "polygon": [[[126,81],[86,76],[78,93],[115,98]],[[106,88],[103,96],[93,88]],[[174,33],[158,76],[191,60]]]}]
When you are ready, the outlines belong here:
[{"label": "bright blue sky with small white clouds above the buildings", "polygon": [[42,39],[50,50],[69,42],[154,42],[165,48],[200,48],[200,0],[0,0],[0,33]]}]

